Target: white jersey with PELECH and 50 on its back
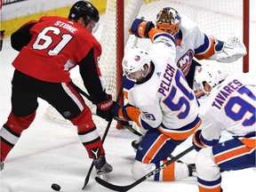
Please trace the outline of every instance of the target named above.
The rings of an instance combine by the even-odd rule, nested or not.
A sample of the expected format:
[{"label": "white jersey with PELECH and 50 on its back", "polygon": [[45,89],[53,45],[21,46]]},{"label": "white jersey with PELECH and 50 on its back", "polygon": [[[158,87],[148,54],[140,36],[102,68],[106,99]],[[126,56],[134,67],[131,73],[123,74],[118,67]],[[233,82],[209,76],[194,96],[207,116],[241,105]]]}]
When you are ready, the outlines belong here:
[{"label": "white jersey with PELECH and 50 on its back", "polygon": [[184,140],[201,124],[196,96],[174,62],[174,39],[170,44],[156,36],[148,48],[154,72],[132,87],[128,100],[142,112],[141,127],[158,128],[174,140]]}]

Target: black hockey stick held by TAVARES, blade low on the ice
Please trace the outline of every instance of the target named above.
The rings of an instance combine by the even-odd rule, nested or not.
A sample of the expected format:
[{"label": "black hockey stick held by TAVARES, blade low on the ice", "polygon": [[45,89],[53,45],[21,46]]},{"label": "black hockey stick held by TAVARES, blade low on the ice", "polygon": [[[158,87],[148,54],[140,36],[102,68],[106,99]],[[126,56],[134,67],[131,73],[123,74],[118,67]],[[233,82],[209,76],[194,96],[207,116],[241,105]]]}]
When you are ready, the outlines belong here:
[{"label": "black hockey stick held by TAVARES, blade low on the ice", "polygon": [[99,177],[95,177],[95,180],[102,186],[104,186],[105,188],[109,188],[111,190],[115,190],[115,191],[128,191],[131,188],[134,188],[135,186],[139,185],[142,181],[147,180],[149,177],[151,177],[152,175],[155,175],[157,172],[160,172],[161,170],[163,170],[166,166],[168,166],[169,164],[172,164],[173,162],[177,161],[180,159],[181,156],[185,156],[186,154],[188,154],[188,152],[190,152],[191,150],[193,150],[194,147],[191,146],[190,148],[187,148],[186,150],[184,150],[183,152],[181,152],[178,156],[173,156],[171,160],[167,161],[166,163],[162,164],[161,166],[159,166],[158,168],[156,168],[155,170],[153,170],[152,172],[148,172],[148,174],[144,175],[143,177],[141,177],[139,180],[136,180],[135,182],[133,182],[130,185],[126,185],[126,186],[117,186],[114,184],[111,184],[105,180],[101,180]]}]

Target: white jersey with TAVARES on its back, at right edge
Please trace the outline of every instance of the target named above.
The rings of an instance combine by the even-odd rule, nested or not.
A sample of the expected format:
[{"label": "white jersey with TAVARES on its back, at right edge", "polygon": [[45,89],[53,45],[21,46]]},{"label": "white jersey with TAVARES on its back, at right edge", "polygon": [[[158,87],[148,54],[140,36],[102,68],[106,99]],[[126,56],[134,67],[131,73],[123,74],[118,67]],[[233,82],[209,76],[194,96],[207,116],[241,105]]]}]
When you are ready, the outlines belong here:
[{"label": "white jersey with TAVARES on its back, at right edge", "polygon": [[256,132],[255,74],[228,76],[204,100],[199,116],[203,128],[201,140],[206,146],[218,143],[223,130],[237,136]]}]

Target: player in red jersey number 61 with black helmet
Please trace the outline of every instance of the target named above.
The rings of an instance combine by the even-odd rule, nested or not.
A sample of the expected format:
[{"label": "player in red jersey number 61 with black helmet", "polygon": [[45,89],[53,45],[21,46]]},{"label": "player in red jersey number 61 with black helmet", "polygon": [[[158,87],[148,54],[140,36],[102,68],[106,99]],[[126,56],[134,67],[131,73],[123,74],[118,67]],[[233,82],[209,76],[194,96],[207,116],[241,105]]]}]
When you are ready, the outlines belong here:
[{"label": "player in red jersey number 61 with black helmet", "polygon": [[[100,135],[92,120],[92,111],[76,91],[69,70],[78,66],[84,86],[97,105],[97,115],[107,121],[112,116],[112,96],[100,80],[100,43],[92,36],[99,21],[98,10],[87,1],[78,1],[68,18],[44,16],[31,20],[11,36],[12,48],[20,53],[13,60],[12,111],[1,129],[1,167],[21,133],[36,116],[37,99],[56,108],[61,116],[76,125],[98,174],[108,174]],[[53,130],[52,130],[53,132]]]}]

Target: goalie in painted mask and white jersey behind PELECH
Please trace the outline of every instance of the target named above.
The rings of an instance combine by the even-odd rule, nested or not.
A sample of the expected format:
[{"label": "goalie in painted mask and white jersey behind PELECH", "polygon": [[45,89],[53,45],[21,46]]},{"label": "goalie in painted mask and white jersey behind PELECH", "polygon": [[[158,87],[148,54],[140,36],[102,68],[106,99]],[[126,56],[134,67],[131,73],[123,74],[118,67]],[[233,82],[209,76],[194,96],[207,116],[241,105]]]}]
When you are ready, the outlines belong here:
[{"label": "goalie in painted mask and white jersey behind PELECH", "polygon": [[[195,69],[201,66],[194,60],[217,60],[222,63],[233,62],[246,54],[246,48],[237,37],[230,37],[228,41],[220,41],[214,36],[207,36],[198,28],[197,24],[185,15],[180,16],[172,7],[164,7],[156,15],[156,28],[164,30],[175,38],[175,63],[182,70],[193,88]],[[129,80],[124,86],[126,95],[132,87]],[[196,91],[196,90],[194,90]],[[204,92],[196,92],[200,97]]]}]

